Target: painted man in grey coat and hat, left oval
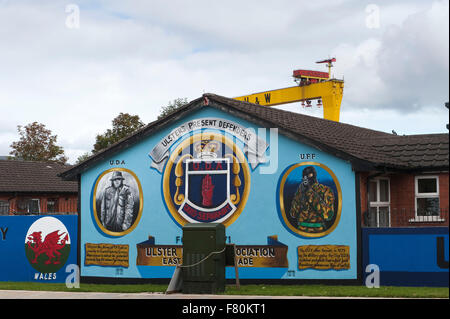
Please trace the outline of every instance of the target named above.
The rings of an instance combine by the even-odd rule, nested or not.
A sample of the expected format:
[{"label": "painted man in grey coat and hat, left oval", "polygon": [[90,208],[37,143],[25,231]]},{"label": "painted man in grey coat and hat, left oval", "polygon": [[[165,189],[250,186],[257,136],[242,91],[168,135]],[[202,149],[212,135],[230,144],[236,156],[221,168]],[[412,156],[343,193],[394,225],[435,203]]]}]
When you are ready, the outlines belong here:
[{"label": "painted man in grey coat and hat, left oval", "polygon": [[130,187],[123,183],[122,172],[115,171],[101,199],[100,220],[114,232],[127,230],[133,220],[134,199]]}]

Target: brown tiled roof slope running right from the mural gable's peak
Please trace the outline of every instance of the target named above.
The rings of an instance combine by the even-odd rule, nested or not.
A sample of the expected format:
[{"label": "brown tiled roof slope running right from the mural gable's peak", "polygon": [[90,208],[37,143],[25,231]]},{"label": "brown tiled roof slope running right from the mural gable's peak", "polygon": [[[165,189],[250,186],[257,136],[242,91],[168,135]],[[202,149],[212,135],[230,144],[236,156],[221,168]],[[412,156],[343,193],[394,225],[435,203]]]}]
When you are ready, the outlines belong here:
[{"label": "brown tiled roof slope running right from the mural gable's peak", "polygon": [[331,152],[340,151],[375,166],[419,169],[449,165],[448,134],[395,135],[217,95],[209,97],[319,142]]}]

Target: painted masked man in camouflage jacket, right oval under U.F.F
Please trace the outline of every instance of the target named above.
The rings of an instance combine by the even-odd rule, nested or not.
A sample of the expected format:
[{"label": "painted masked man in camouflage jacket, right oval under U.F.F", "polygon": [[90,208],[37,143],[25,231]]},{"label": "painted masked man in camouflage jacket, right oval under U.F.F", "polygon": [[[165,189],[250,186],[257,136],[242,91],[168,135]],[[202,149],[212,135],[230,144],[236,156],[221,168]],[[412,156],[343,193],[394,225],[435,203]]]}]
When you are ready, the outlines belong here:
[{"label": "painted masked man in camouflage jacket, right oval under U.F.F", "polygon": [[297,220],[301,231],[323,232],[326,230],[326,222],[334,215],[333,190],[317,181],[317,172],[313,166],[306,167],[302,176],[289,213]]}]

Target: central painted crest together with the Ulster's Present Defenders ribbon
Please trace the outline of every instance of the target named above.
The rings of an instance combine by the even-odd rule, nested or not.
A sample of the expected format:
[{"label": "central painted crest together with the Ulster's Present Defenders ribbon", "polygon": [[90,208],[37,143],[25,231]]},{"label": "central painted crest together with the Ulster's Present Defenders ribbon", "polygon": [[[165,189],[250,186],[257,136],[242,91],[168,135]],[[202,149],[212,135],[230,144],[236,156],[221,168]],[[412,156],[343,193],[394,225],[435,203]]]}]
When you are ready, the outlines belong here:
[{"label": "central painted crest together with the Ulster's Present Defenders ribbon", "polygon": [[269,145],[252,128],[221,118],[198,118],[168,132],[149,153],[163,175],[171,217],[187,223],[231,225],[250,192],[250,167],[266,162]]}]

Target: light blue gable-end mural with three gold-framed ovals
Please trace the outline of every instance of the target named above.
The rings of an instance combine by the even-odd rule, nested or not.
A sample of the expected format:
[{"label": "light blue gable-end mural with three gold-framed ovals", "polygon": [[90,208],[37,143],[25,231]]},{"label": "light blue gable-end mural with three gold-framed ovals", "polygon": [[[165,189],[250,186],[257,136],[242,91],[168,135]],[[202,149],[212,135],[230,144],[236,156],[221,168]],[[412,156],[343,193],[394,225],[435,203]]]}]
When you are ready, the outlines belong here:
[{"label": "light blue gable-end mural with three gold-framed ovals", "polygon": [[[202,110],[83,173],[82,276],[170,278],[183,226],[222,223],[242,279],[354,279],[355,215],[339,223],[341,185],[355,209],[350,165],[256,130]],[[295,162],[304,153],[314,161]]]}]

